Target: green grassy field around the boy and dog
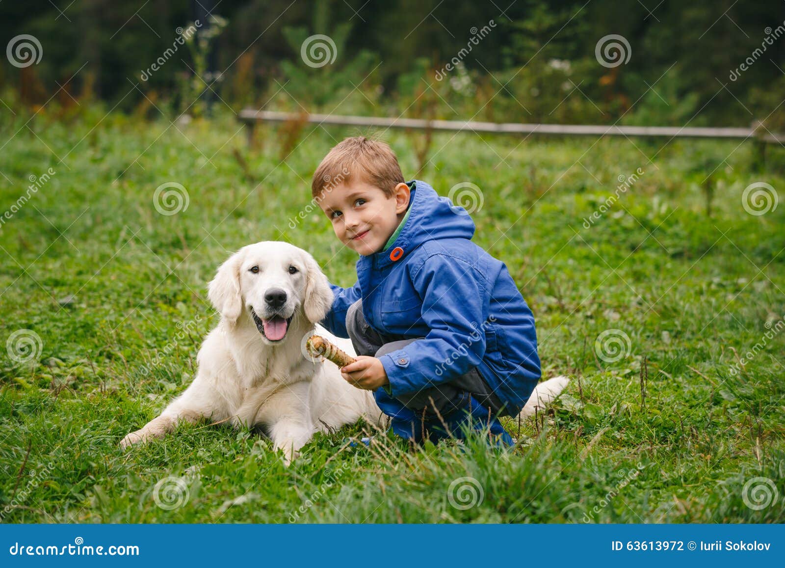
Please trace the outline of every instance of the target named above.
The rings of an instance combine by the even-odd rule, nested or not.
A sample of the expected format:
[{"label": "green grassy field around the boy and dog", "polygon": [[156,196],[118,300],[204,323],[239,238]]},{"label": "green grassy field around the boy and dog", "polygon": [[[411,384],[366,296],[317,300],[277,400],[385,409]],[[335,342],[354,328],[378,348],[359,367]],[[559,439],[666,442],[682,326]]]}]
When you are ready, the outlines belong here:
[{"label": "green grassy field around the boy and dog", "polygon": [[[436,135],[417,177],[479,187],[475,241],[534,311],[543,376],[574,378],[506,422],[513,452],[347,445],[358,423],[287,469],[248,431],[118,442],[192,379],[231,251],[287,240],[354,283],[352,251],[299,213],[356,131],[305,130],[282,161],[272,127],[250,150],[228,116],[103,116],[0,127],[2,522],[785,521],[785,207],[743,203],[754,182],[785,197],[782,148],[754,169],[750,143]],[[420,141],[384,137],[414,178]],[[187,207],[156,207],[168,182]]]}]

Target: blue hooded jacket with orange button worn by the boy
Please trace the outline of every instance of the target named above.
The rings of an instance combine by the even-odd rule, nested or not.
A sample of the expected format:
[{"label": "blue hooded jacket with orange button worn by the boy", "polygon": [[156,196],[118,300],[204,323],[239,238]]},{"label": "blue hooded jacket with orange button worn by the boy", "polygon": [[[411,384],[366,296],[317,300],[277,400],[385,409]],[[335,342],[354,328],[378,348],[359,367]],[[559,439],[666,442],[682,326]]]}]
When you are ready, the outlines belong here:
[{"label": "blue hooded jacket with orange button worn by the boy", "polygon": [[[410,187],[412,183],[409,183]],[[352,288],[330,284],[334,302],[323,325],[349,337],[346,312],[363,299],[363,315],[382,335],[425,338],[379,357],[389,394],[374,393],[389,408],[413,394],[477,368],[517,416],[540,378],[531,310],[501,261],[471,242],[474,222],[463,207],[415,180],[410,211],[385,251],[360,256]],[[392,260],[396,248],[403,255]],[[401,405],[403,411],[403,405]]]}]

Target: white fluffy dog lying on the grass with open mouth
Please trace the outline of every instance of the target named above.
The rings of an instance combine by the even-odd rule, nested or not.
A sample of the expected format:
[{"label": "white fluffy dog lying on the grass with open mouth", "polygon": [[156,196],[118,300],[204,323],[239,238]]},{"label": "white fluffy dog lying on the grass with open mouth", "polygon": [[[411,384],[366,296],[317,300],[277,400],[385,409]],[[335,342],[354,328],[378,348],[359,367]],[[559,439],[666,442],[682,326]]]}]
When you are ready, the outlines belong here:
[{"label": "white fluffy dog lying on the grass with open mouth", "polygon": [[[370,390],[352,387],[338,367],[305,355],[305,339],[315,332],[355,354],[348,339],[316,325],[330,311],[333,292],[307,252],[277,241],[243,247],[218,269],[208,298],[221,321],[199,350],[196,378],[161,416],[126,435],[123,448],[161,438],[180,420],[231,420],[235,427],[261,425],[289,464],[316,431],[360,417],[381,425]],[[540,384],[521,416],[549,404],[567,382]]]}]

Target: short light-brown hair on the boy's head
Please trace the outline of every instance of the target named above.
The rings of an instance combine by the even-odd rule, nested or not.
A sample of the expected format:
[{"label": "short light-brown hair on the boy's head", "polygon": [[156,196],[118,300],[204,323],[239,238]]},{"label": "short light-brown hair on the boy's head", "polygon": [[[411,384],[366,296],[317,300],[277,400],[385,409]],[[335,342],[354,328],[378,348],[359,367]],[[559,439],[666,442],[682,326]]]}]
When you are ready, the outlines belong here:
[{"label": "short light-brown hair on the boy's head", "polygon": [[313,197],[327,189],[349,183],[353,176],[360,178],[385,192],[395,194],[395,186],[404,182],[398,159],[385,142],[364,136],[345,138],[324,156],[313,174],[311,193]]}]

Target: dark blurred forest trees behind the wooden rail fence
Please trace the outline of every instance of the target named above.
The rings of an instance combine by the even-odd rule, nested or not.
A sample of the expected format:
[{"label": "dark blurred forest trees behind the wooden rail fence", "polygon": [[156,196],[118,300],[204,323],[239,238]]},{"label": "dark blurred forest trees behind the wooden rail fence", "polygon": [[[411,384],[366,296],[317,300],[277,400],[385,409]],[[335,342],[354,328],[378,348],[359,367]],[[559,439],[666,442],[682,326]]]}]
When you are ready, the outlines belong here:
[{"label": "dark blurred forest trees behind the wooden rail fence", "polygon": [[[459,57],[464,70],[444,82],[458,89],[439,90],[438,114],[469,117],[480,111],[500,120],[597,123],[623,117],[635,123],[663,119],[747,126],[775,110],[785,71],[785,37],[772,30],[785,25],[785,2],[658,2],[221,0],[216,8],[228,27],[216,39],[214,65],[206,72],[226,76],[214,89],[220,87],[221,98],[232,106],[261,106],[288,80],[286,90],[295,99],[320,108],[338,104],[381,62],[373,89],[363,87],[364,96],[352,106],[377,112],[379,82],[385,102],[411,102],[407,93],[397,92],[407,82],[398,79],[416,72],[418,60],[426,60],[430,72],[464,53]],[[3,58],[0,77],[5,88],[23,90],[27,104],[43,104],[64,86],[74,96],[100,97],[130,110],[143,98],[138,86],[148,95],[158,93],[156,106],[164,112],[178,108],[179,86],[195,64],[187,49],[174,53],[147,80],[140,78],[172,46],[177,27],[194,19],[191,7],[199,4],[210,12],[206,2],[195,0],[0,2],[0,44],[30,34],[43,49],[42,60],[24,70]],[[466,54],[472,31],[491,20],[493,31]],[[302,42],[316,34],[334,42],[334,64],[311,68],[303,63]],[[597,62],[597,42],[608,35],[629,42],[626,64],[605,68]],[[749,58],[754,63],[732,75]],[[660,89],[667,93],[660,93],[662,98]],[[477,97],[476,110],[463,106],[469,90]],[[283,102],[277,97],[271,104]],[[293,103],[289,97],[284,104]]]}]

